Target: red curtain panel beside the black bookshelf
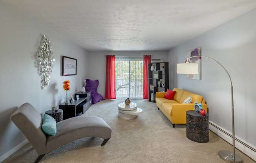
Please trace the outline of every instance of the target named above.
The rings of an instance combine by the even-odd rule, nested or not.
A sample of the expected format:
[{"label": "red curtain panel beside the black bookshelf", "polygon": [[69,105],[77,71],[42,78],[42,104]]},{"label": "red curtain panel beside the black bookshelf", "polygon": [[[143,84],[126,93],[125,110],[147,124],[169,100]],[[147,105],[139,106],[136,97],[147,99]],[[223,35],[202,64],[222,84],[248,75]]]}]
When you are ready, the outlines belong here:
[{"label": "red curtain panel beside the black bookshelf", "polygon": [[148,63],[151,56],[143,56],[143,98],[148,99]]}]

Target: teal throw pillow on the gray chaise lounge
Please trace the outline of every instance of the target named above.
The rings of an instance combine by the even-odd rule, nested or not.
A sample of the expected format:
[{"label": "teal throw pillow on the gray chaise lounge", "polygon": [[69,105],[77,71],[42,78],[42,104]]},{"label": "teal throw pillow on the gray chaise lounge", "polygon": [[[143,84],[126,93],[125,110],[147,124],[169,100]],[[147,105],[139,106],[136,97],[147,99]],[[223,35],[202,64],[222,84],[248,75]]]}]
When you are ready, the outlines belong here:
[{"label": "teal throw pillow on the gray chaise lounge", "polygon": [[57,133],[56,121],[48,114],[44,114],[44,121],[42,124],[42,130],[45,134],[55,136]]}]

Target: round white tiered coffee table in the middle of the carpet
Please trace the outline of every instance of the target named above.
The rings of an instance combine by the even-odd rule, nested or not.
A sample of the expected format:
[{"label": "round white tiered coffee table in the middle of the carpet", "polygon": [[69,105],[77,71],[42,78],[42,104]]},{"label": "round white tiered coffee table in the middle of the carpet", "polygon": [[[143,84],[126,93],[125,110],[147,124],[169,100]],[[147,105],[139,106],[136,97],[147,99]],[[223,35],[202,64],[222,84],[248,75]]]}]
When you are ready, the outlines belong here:
[{"label": "round white tiered coffee table in the middle of the carpet", "polygon": [[137,107],[137,103],[131,102],[130,105],[125,105],[124,102],[118,105],[118,116],[124,120],[132,120],[142,112],[141,108]]}]

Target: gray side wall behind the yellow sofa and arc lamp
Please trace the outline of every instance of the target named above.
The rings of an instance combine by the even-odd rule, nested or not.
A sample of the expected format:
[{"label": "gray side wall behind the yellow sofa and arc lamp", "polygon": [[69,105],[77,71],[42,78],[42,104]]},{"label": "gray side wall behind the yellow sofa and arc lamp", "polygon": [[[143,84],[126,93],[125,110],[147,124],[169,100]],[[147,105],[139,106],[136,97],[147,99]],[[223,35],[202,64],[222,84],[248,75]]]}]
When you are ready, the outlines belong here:
[{"label": "gray side wall behind the yellow sofa and arc lamp", "polygon": [[232,132],[230,82],[225,71],[202,58],[201,80],[176,74],[185,52],[201,47],[230,72],[234,85],[236,136],[256,146],[256,9],[222,24],[169,51],[170,87],[201,94],[207,100],[210,121]]}]

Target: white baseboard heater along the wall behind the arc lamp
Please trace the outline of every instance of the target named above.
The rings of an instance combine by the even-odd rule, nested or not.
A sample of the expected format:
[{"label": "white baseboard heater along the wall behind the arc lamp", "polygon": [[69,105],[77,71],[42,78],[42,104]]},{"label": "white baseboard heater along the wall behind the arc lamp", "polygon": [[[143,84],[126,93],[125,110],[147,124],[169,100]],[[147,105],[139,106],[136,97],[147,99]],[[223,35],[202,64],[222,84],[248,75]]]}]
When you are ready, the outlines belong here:
[{"label": "white baseboard heater along the wall behind the arc lamp", "polygon": [[[232,145],[232,134],[228,132],[227,130],[223,129],[222,127],[219,127],[212,121],[209,121],[209,129],[217,134],[219,137],[223,138],[225,141],[230,143]],[[243,139],[240,139],[236,136],[235,138],[235,147],[236,149],[239,149],[241,152],[245,153],[247,156],[249,156],[251,159],[256,161],[256,147],[253,145],[247,143]]]}]

